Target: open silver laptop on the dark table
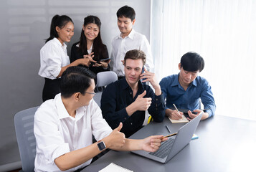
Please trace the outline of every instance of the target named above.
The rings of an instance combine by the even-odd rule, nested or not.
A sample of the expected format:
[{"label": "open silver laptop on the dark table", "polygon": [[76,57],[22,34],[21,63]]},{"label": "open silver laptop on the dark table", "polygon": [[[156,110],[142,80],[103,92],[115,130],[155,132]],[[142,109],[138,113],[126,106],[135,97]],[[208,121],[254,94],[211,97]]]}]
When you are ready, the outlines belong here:
[{"label": "open silver laptop on the dark table", "polygon": [[[183,127],[181,127],[176,135],[176,137],[172,136],[165,142],[161,143],[158,151],[154,153],[149,153],[146,151],[131,151],[139,156],[143,156],[149,158],[153,161],[158,161],[160,163],[167,163],[174,156],[176,156],[179,151],[186,147],[189,144],[197,125],[199,124],[203,113],[200,113],[196,118],[186,123]],[[157,130],[157,128],[155,128]],[[141,134],[141,133],[140,133]],[[136,135],[138,137],[138,135]],[[143,138],[143,135],[141,135]]]}]

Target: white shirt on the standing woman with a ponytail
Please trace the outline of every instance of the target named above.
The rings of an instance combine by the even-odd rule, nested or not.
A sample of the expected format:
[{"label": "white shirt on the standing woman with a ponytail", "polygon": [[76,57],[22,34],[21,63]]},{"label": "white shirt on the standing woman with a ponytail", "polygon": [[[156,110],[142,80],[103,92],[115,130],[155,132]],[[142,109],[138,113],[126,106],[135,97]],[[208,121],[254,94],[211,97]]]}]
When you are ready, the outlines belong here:
[{"label": "white shirt on the standing woman with a ponytail", "polygon": [[57,78],[62,67],[70,65],[67,55],[67,45],[62,44],[57,38],[49,40],[40,50],[40,69],[38,75],[51,80]]}]

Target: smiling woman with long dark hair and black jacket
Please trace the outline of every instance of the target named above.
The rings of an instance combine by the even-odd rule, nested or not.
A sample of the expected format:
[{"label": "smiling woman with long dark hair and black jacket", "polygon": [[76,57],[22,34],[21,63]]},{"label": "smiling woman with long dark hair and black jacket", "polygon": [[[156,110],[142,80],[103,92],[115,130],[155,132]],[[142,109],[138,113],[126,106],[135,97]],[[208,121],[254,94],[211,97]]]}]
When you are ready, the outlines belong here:
[{"label": "smiling woman with long dark hair and black jacket", "polygon": [[85,17],[80,41],[72,45],[70,56],[70,62],[86,57],[93,58],[96,63],[91,63],[89,70],[95,74],[110,70],[108,49],[100,37],[100,26],[101,22],[97,16]]}]

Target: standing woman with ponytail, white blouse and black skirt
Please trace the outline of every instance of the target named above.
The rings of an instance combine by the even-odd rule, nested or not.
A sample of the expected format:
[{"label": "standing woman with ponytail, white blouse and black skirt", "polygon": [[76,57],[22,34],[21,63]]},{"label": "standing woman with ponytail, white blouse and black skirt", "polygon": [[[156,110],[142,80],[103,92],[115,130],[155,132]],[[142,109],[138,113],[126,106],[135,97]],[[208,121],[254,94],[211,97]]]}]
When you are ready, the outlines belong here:
[{"label": "standing woman with ponytail, white blouse and black skirt", "polygon": [[74,23],[69,16],[55,15],[52,18],[50,36],[40,50],[41,66],[38,74],[45,79],[42,92],[43,101],[52,99],[60,93],[60,77],[67,67],[89,66],[90,62],[95,62],[92,57],[86,56],[70,63],[65,42],[70,42],[73,35]]}]

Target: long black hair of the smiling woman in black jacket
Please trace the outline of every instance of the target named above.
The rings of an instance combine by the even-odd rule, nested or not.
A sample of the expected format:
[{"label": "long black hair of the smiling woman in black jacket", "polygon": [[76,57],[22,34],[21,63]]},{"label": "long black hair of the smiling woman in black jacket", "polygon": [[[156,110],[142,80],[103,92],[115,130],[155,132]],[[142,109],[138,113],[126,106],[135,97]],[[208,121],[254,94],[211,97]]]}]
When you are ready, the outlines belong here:
[{"label": "long black hair of the smiling woman in black jacket", "polygon": [[[99,28],[99,34],[98,37],[95,37],[95,39],[93,40],[93,50],[92,52],[94,52],[94,60],[95,61],[99,61],[100,57],[102,57],[103,59],[105,57],[103,57],[104,54],[103,51],[105,50],[104,47],[105,45],[103,44],[103,41],[101,39],[100,36],[100,27],[101,27],[101,22],[100,19],[98,18],[98,16],[87,16],[84,19],[84,27],[86,27],[87,24],[96,24]],[[81,32],[81,36],[80,36],[80,41],[75,43],[78,44],[79,43],[79,51],[82,52],[82,54],[87,54],[87,41],[86,41],[86,37],[85,37],[85,32],[82,29]]]}]

